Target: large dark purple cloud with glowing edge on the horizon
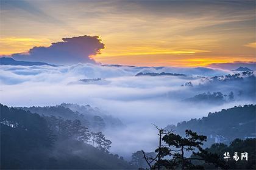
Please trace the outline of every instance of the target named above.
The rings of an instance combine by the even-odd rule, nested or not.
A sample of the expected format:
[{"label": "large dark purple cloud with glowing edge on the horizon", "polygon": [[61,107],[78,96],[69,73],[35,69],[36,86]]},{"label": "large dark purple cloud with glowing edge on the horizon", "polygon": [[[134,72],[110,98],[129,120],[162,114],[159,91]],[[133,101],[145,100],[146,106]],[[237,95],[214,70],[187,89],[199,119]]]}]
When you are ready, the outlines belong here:
[{"label": "large dark purple cloud with glowing edge on the horizon", "polygon": [[104,44],[99,36],[77,36],[62,38],[62,42],[54,42],[49,47],[33,47],[28,54],[16,53],[15,60],[42,61],[51,64],[95,63],[91,55],[100,53]]}]

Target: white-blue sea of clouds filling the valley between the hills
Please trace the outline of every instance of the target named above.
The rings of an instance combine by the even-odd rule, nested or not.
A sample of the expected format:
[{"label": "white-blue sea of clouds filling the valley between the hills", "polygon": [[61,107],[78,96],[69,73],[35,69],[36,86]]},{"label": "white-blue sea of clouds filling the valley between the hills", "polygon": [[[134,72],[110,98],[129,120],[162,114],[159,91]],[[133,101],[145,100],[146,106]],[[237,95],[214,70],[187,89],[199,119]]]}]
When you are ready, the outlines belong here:
[{"label": "white-blue sea of clouds filling the valley between the hills", "polygon": [[[154,151],[160,127],[238,104],[255,103],[251,98],[221,105],[191,104],[184,100],[202,92],[237,91],[231,85],[200,89],[208,77],[227,75],[229,70],[205,67],[129,67],[74,64],[69,66],[0,66],[0,103],[7,106],[54,106],[60,103],[90,104],[105,110],[126,124],[123,129],[106,130],[112,140],[111,151],[129,157],[144,149]],[[139,72],[183,73],[187,77],[135,77]],[[80,79],[101,78],[82,83]],[[181,86],[191,81],[194,87]],[[235,94],[236,95],[236,94]],[[125,146],[125,147],[124,147]]]}]

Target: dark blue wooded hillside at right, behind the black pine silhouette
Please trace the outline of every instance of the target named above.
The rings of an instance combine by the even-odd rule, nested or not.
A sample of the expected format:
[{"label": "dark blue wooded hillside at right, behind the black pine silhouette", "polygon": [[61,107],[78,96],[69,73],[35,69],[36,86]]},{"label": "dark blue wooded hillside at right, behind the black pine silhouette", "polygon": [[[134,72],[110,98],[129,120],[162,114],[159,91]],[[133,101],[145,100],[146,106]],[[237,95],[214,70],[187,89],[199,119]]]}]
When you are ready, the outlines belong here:
[{"label": "dark blue wooded hillside at right, behind the black pine silhouette", "polygon": [[207,117],[192,118],[168,125],[166,129],[172,129],[177,134],[184,135],[186,129],[206,135],[210,146],[212,143],[227,143],[235,138],[256,138],[256,105],[235,106],[230,109],[222,109],[220,112],[209,112]]}]

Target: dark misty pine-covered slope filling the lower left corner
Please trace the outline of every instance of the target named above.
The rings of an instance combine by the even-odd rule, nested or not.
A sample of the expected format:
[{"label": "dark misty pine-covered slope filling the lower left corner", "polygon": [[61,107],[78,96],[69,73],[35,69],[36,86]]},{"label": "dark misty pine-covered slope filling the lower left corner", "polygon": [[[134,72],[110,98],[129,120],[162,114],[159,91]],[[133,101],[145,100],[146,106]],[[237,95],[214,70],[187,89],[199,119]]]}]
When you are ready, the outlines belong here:
[{"label": "dark misty pine-covered slope filling the lower left corner", "polygon": [[[2,104],[0,112],[1,169],[133,168],[122,157],[99,146],[95,148],[95,144],[91,146],[85,140],[78,140],[80,136],[72,135],[76,134],[76,129],[80,132],[80,127],[84,127],[79,121],[58,121],[69,123],[69,126],[60,124],[59,131],[54,132],[49,126],[49,117]],[[82,128],[83,131],[86,129]],[[73,133],[68,135],[67,132]]]}]

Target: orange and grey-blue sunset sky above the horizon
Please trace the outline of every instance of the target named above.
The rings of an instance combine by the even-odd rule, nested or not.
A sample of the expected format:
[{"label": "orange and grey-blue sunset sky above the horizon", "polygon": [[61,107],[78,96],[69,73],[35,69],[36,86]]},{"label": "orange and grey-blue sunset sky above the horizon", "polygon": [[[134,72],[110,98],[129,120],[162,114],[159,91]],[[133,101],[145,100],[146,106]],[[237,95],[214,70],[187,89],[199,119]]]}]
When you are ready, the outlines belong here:
[{"label": "orange and grey-blue sunset sky above the horizon", "polygon": [[255,1],[0,1],[0,55],[97,36],[102,64],[255,62]]}]

